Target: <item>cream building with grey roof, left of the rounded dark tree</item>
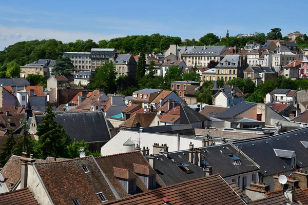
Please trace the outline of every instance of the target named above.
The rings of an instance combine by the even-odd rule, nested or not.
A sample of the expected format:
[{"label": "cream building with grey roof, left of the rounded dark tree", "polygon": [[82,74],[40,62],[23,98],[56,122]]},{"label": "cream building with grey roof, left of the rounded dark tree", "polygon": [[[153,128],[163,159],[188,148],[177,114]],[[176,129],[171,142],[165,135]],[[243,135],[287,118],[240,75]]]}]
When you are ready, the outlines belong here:
[{"label": "cream building with grey roof, left of the rounded dark tree", "polygon": [[26,78],[31,74],[39,74],[43,76],[49,77],[49,67],[54,66],[55,60],[46,60],[39,59],[34,61],[33,63],[27,64],[25,66],[21,66],[20,77]]}]

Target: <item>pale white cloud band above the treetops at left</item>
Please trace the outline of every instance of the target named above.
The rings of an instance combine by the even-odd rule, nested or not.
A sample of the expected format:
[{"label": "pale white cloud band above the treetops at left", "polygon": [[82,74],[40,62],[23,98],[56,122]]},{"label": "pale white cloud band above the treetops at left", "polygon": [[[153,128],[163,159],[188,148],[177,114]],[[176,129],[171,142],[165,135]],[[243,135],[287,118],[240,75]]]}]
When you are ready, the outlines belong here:
[{"label": "pale white cloud band above the treetops at left", "polygon": [[62,31],[45,28],[31,27],[6,27],[0,25],[0,50],[3,50],[9,45],[21,42],[24,40],[34,39],[50,39],[61,40],[63,43],[74,42],[77,39],[87,40],[92,39],[98,42],[101,39],[110,39],[114,37],[122,37],[123,34],[100,34],[82,31]]}]

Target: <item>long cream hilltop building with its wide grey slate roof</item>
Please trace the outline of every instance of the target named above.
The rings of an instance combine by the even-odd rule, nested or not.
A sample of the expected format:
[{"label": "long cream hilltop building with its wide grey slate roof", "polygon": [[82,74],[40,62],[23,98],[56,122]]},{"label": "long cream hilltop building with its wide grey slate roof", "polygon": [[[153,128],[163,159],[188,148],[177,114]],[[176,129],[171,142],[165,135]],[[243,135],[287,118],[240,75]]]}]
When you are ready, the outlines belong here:
[{"label": "long cream hilltop building with its wide grey slate roof", "polygon": [[225,46],[182,46],[181,58],[187,66],[207,67],[209,61],[220,61],[220,55],[227,50]]}]

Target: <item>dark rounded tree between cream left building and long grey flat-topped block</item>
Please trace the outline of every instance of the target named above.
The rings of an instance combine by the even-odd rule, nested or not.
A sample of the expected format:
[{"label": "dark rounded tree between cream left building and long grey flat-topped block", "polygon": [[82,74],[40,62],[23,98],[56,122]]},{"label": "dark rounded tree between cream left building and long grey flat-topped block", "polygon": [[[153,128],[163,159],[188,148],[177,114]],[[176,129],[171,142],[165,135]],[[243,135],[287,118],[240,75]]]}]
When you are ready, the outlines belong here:
[{"label": "dark rounded tree between cream left building and long grey flat-topped block", "polygon": [[55,61],[51,74],[55,76],[64,75],[67,77],[74,72],[74,70],[75,67],[69,57],[60,55]]}]

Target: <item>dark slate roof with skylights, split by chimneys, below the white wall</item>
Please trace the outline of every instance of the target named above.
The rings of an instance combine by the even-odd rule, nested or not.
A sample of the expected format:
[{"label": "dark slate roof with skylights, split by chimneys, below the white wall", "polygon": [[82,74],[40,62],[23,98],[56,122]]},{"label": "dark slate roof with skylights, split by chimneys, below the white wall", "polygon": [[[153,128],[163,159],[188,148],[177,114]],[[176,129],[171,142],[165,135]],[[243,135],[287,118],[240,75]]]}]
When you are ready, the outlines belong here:
[{"label": "dark slate roof with skylights, split by chimneys, below the white wall", "polygon": [[[200,149],[205,156],[206,147]],[[175,183],[203,177],[203,167],[189,162],[188,151],[169,152],[168,158],[163,154],[155,155],[155,171],[158,172],[165,185],[174,185]],[[212,167],[213,174],[219,173],[222,177],[237,175],[237,167],[234,165],[235,161],[229,156],[232,154],[241,160],[240,173],[259,170],[257,166],[253,166],[254,163],[246,158],[242,152],[239,154],[238,150],[227,142],[221,145],[209,146],[207,149],[206,162],[208,166]],[[146,159],[148,160],[148,156]],[[179,163],[187,165],[191,172],[183,172],[177,166]]]}]

